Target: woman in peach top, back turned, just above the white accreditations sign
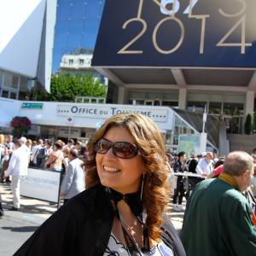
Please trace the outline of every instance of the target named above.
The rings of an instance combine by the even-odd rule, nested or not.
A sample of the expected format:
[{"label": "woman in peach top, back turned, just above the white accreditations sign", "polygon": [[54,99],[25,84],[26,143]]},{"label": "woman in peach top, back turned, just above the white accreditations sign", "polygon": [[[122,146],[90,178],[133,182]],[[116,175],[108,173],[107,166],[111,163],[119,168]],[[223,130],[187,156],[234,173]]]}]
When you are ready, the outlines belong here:
[{"label": "woman in peach top, back turned, just above the white accreditations sign", "polygon": [[62,149],[62,144],[59,142],[56,142],[54,151],[51,154],[49,154],[49,158],[45,162],[46,168],[55,172],[61,172],[62,162],[64,160],[64,156],[61,149]]}]

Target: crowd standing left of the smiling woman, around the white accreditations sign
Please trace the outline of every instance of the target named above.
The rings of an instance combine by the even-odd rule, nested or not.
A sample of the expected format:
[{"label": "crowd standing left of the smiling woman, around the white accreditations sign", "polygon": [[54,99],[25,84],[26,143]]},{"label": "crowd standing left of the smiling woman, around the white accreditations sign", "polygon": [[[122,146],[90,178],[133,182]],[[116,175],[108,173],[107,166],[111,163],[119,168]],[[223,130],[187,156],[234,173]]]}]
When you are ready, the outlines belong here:
[{"label": "crowd standing left of the smiling woman, around the white accreditations sign", "polygon": [[[0,183],[10,183],[13,192],[13,206],[10,211],[20,209],[20,179],[27,175],[28,167],[61,172],[60,196],[64,203],[85,189],[84,167],[82,165],[85,147],[73,139],[67,144],[57,140],[33,141],[20,137],[13,142],[11,135],[0,134]],[[12,177],[11,180],[9,177]],[[0,215],[3,207],[0,198]]]}]

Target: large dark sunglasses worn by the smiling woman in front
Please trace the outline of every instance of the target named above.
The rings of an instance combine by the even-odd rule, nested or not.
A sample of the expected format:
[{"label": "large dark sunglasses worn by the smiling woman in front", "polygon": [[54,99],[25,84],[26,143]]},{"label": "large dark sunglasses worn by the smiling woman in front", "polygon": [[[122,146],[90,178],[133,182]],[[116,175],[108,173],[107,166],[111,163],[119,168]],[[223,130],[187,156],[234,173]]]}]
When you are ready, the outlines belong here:
[{"label": "large dark sunglasses worn by the smiling woman in front", "polygon": [[123,159],[133,158],[139,154],[139,150],[134,144],[127,142],[111,143],[105,138],[101,138],[97,141],[94,150],[99,154],[107,154],[110,148],[112,148],[115,156]]}]

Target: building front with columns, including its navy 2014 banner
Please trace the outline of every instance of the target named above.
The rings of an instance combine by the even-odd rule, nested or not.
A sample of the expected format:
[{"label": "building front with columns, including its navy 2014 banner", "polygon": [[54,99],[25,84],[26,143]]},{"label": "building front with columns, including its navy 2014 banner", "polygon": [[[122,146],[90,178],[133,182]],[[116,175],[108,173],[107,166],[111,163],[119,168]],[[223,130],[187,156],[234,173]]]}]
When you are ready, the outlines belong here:
[{"label": "building front with columns, including its navy 2014 banner", "polygon": [[255,7],[250,0],[106,0],[93,66],[108,76],[107,102],[157,98],[160,106],[206,109],[241,132],[254,111]]}]

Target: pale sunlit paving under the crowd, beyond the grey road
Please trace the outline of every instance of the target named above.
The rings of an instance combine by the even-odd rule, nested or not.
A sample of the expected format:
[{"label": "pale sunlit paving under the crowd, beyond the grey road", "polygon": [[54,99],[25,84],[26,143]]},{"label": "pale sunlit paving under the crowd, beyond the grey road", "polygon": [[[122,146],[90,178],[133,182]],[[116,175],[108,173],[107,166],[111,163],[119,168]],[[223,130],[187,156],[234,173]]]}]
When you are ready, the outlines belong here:
[{"label": "pale sunlit paving under the crowd, beyond the grey road", "polygon": [[[0,193],[2,195],[3,208],[5,218],[19,218],[24,219],[32,224],[42,224],[47,218],[49,218],[56,210],[57,205],[50,205],[48,201],[41,201],[37,199],[20,197],[21,207],[19,212],[9,211],[8,208],[12,206],[12,192],[9,184],[0,183]],[[183,209],[185,208],[183,204]],[[172,204],[168,205],[167,215],[172,219],[176,230],[181,230],[183,224],[183,213],[174,212],[172,210]]]}]

